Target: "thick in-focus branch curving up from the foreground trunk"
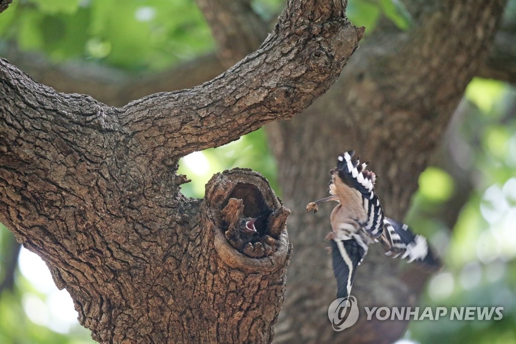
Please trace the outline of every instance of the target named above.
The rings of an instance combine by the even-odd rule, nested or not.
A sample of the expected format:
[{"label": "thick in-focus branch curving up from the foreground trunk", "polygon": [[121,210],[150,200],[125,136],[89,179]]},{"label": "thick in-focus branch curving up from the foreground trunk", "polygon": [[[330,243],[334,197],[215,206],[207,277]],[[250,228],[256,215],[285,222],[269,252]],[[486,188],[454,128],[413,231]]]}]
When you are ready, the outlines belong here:
[{"label": "thick in-focus branch curving up from the foreground trunk", "polygon": [[340,1],[317,4],[290,2],[258,51],[199,87],[128,104],[123,126],[161,160],[231,142],[308,107],[363,34],[345,19]]}]

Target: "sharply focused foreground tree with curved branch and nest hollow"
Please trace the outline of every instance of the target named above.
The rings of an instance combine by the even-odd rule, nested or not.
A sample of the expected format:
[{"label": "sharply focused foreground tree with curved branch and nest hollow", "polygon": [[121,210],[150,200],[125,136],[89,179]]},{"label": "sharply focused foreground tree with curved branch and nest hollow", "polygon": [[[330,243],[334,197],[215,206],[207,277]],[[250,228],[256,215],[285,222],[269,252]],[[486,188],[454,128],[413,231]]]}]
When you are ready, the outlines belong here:
[{"label": "sharply focused foreground tree with curved branch and nest hollow", "polygon": [[[45,260],[95,340],[272,340],[288,210],[247,170],[214,176],[204,200],[185,198],[178,160],[324,93],[363,34],[344,11],[341,0],[289,1],[260,49],[227,72],[120,108],[0,59],[0,221]],[[239,247],[260,257],[250,258],[223,233],[257,215],[260,242]]]}]

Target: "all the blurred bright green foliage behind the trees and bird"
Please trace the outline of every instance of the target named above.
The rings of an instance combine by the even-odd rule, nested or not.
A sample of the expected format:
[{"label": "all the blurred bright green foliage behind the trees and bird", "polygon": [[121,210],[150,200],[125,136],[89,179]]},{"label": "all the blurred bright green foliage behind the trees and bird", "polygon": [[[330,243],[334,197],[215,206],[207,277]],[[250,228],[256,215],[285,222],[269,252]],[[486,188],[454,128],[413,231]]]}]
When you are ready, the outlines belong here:
[{"label": "all the blurred bright green foliage behind the trees and bird", "polygon": [[[515,12],[515,3],[507,12]],[[252,6],[274,21],[283,2],[255,0]],[[350,0],[347,13],[367,34],[379,20],[401,30],[412,25],[398,0]],[[159,72],[215,49],[192,0],[18,0],[0,14],[0,53],[13,43],[55,63],[86,60],[133,73]],[[503,306],[504,317],[413,321],[401,341],[516,343],[516,89],[474,79],[460,109],[447,135],[447,158],[439,155],[421,174],[406,218],[446,264],[430,280],[421,306]],[[280,193],[262,130],[185,157],[180,173],[192,182],[183,192],[202,197],[214,173],[236,166],[261,171]],[[446,221],[450,207],[460,207],[456,223]],[[12,234],[0,225],[0,282],[11,249]],[[92,342],[67,292],[55,288],[45,269],[22,249],[14,288],[0,294],[0,343]]]}]

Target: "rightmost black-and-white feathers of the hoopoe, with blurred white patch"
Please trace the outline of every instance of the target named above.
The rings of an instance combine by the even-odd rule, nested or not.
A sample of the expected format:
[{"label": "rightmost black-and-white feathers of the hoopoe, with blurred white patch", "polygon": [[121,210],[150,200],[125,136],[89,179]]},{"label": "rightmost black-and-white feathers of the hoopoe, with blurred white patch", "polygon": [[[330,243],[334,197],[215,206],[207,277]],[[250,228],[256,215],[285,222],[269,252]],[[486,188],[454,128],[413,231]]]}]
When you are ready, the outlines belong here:
[{"label": "rightmost black-and-white feathers of the hoopoe, with blurred white patch", "polygon": [[393,258],[401,256],[409,262],[416,261],[432,267],[441,267],[441,262],[433,254],[425,237],[414,234],[410,227],[392,218],[383,220],[383,233],[378,240],[385,249],[385,254]]}]

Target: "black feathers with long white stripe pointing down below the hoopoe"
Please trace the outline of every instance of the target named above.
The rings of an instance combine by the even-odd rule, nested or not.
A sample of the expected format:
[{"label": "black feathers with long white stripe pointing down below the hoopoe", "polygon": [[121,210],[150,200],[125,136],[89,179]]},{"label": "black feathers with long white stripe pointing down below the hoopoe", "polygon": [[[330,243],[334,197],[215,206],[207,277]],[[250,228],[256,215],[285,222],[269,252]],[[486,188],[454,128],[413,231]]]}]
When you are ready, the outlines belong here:
[{"label": "black feathers with long white stripe pointing down below the hoopoe", "polygon": [[337,280],[337,298],[349,296],[356,268],[367,253],[367,246],[356,239],[330,240],[332,265]]}]

